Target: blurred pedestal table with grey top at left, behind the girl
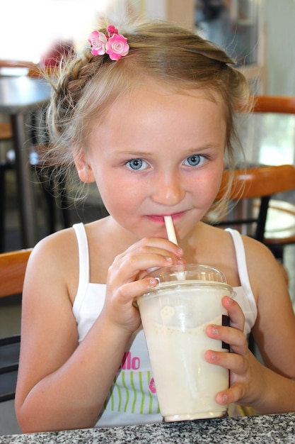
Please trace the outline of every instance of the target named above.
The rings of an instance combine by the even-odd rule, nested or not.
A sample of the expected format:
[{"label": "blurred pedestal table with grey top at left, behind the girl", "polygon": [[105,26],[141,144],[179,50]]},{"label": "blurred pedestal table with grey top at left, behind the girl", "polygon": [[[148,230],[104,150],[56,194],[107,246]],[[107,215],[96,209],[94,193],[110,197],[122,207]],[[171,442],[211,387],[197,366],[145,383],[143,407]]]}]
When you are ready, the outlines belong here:
[{"label": "blurred pedestal table with grey top at left, behind the girl", "polygon": [[23,248],[33,247],[38,240],[37,215],[30,174],[28,116],[45,106],[51,87],[44,79],[35,77],[0,77],[0,113],[10,116],[13,145],[16,150],[18,195],[21,206]]}]

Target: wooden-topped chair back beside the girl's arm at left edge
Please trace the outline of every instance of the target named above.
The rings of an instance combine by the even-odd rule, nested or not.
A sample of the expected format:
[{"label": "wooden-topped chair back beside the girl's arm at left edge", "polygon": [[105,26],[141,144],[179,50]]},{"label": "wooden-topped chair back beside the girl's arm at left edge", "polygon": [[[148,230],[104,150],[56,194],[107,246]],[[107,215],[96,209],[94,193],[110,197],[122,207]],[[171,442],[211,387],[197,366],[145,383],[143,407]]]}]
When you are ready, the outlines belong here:
[{"label": "wooden-topped chair back beside the girl's arm at left edge", "polygon": [[[31,249],[0,254],[0,298],[21,294]],[[21,335],[0,338],[0,402],[14,399]]]}]

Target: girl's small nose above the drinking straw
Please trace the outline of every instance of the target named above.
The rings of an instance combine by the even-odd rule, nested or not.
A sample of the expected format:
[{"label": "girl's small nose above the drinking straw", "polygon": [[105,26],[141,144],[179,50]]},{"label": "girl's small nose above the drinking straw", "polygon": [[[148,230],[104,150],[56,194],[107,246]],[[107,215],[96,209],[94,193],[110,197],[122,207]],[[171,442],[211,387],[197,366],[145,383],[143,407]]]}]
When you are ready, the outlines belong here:
[{"label": "girl's small nose above the drinking straw", "polygon": [[175,206],[184,196],[185,189],[178,174],[159,174],[157,178],[154,177],[151,199],[157,204]]}]

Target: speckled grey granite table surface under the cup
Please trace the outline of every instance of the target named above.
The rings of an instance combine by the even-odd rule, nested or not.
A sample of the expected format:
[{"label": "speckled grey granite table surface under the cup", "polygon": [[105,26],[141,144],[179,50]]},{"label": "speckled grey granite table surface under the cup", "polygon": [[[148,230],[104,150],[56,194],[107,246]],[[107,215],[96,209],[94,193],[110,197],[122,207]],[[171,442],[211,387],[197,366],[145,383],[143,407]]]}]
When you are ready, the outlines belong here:
[{"label": "speckled grey granite table surface under the cup", "polygon": [[0,436],[0,444],[295,443],[295,414],[215,418],[76,431]]}]

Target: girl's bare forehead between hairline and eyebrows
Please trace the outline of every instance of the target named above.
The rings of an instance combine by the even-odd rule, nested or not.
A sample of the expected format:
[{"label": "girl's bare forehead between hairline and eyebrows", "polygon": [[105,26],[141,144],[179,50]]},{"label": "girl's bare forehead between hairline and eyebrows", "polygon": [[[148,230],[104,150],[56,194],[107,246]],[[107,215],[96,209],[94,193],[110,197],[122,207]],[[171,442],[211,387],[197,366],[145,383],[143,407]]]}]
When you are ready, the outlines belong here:
[{"label": "girl's bare forehead between hairline and eyebrows", "polygon": [[226,133],[224,104],[202,89],[175,91],[147,84],[118,98],[93,126],[91,145],[122,147],[149,145],[171,149],[183,145],[218,143]]}]

